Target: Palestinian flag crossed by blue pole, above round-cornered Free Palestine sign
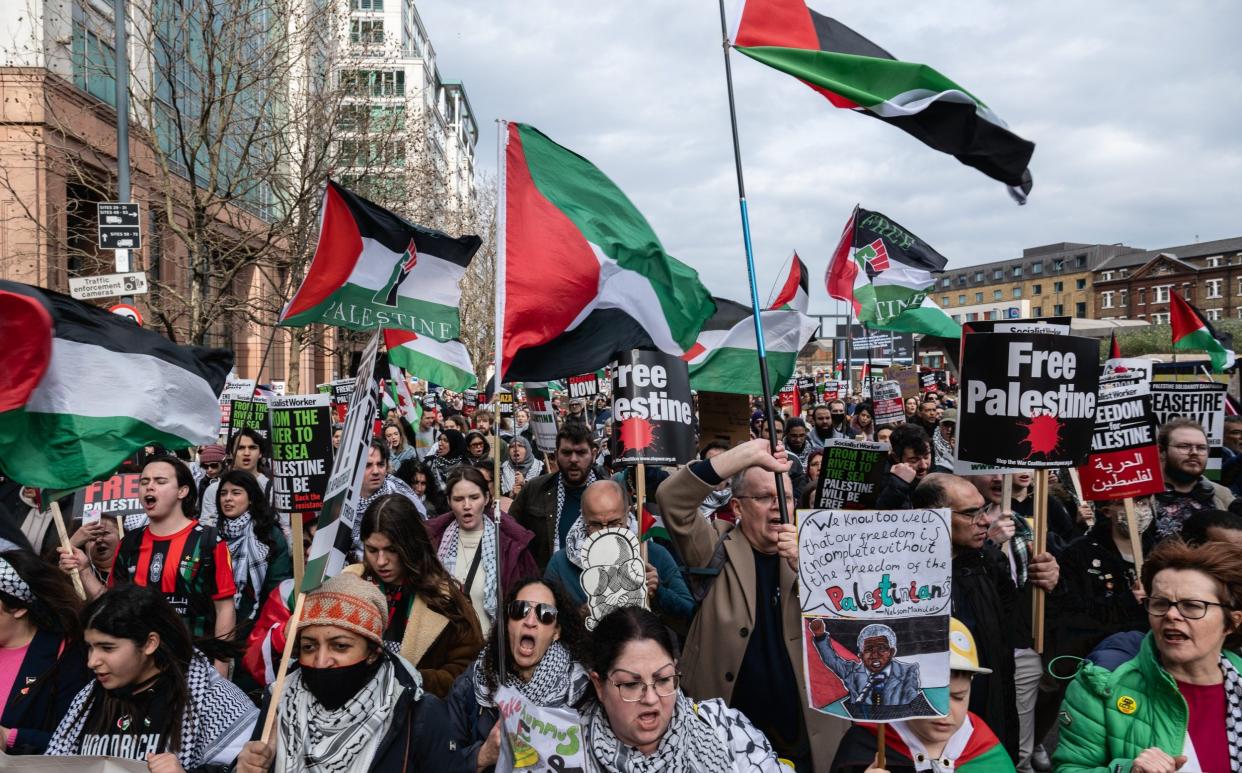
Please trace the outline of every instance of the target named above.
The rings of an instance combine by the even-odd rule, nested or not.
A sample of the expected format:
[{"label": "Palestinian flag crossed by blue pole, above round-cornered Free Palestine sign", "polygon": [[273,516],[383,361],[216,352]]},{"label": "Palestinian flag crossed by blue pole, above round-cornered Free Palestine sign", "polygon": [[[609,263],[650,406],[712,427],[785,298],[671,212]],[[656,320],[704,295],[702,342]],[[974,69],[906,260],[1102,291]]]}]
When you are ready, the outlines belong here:
[{"label": "Palestinian flag crossed by blue pole, above round-cornered Free Palestine sign", "polygon": [[[771,308],[760,312],[769,384],[784,384],[794,375],[797,353],[818,327],[806,316],[807,273],[794,256],[789,278]],[[691,386],[702,391],[763,394],[755,316],[749,306],[715,298],[715,313],[703,324],[694,347],[682,355],[691,372]]]}]

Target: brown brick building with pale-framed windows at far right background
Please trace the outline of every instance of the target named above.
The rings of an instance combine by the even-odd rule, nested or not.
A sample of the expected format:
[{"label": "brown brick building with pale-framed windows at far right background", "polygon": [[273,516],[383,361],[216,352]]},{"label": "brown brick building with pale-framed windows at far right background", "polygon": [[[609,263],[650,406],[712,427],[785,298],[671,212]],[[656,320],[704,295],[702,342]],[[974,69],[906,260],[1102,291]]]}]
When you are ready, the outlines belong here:
[{"label": "brown brick building with pale-framed windows at far right background", "polygon": [[1170,292],[1210,321],[1242,317],[1242,236],[1117,255],[1094,275],[1098,319],[1167,323]]}]

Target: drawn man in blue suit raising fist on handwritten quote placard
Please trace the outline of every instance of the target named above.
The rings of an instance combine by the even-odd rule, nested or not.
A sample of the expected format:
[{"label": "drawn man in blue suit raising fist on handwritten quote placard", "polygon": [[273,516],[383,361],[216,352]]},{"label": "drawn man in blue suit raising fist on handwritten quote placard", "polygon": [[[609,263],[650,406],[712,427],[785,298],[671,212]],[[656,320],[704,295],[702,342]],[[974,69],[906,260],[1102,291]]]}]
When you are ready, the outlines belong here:
[{"label": "drawn man in blue suit raising fist on handwritten quote placard", "polygon": [[811,620],[815,650],[830,671],[837,675],[850,695],[845,708],[856,720],[904,717],[912,710],[939,713],[932,708],[919,686],[919,666],[894,660],[897,634],[892,628],[873,623],[858,633],[858,660],[842,657],[822,620]]}]

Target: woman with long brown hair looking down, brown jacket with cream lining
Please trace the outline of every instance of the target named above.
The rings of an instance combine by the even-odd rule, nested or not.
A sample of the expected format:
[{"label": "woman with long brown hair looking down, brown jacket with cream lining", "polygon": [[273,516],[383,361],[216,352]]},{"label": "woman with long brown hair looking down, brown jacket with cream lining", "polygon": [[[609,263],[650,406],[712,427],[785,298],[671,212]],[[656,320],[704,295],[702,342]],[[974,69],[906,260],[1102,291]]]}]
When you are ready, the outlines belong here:
[{"label": "woman with long brown hair looking down, brown jacket with cream lining", "polygon": [[361,564],[345,572],[379,585],[389,605],[385,641],[400,643],[401,657],[422,676],[427,692],[443,697],[474,662],[483,635],[457,580],[445,572],[414,502],[383,496],[363,513]]}]

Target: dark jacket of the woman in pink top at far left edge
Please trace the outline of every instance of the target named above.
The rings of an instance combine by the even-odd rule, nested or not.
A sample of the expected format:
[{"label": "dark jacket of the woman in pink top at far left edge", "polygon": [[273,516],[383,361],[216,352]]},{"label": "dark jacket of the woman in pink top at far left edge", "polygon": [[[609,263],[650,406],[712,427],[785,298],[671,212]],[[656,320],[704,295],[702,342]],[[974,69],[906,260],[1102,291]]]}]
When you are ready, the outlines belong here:
[{"label": "dark jacket of the woman in pink top at far left edge", "polygon": [[93,679],[82,645],[62,652],[63,641],[51,631],[39,631],[30,641],[0,715],[0,726],[17,731],[10,754],[42,754],[73,697]]}]

